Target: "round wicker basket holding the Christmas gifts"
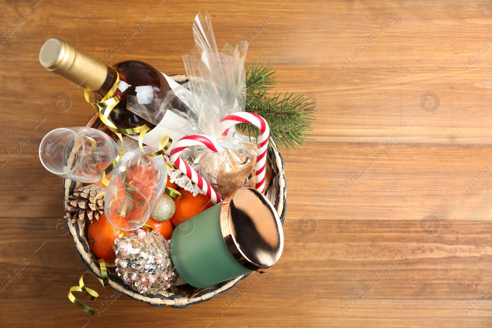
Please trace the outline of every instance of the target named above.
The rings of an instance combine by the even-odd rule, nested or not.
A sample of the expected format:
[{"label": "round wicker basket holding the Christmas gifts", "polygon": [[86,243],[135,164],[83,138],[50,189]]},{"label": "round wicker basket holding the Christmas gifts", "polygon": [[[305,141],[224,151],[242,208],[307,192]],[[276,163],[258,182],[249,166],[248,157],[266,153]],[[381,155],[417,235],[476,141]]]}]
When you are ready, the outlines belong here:
[{"label": "round wicker basket holding the Christmas gifts", "polygon": [[[97,115],[93,115],[91,119],[89,119],[87,126],[96,128],[102,131],[107,132],[107,127],[102,124],[101,120]],[[267,157],[267,168],[269,168],[272,172],[272,179],[270,184],[266,186],[267,197],[274,204],[275,209],[277,209],[278,216],[280,217],[280,222],[283,225],[283,221],[285,219],[285,211],[286,211],[286,203],[285,203],[285,195],[286,195],[286,181],[283,172],[284,162],[283,158],[278,152],[277,146],[271,140],[270,146],[268,149],[268,157]],[[77,189],[83,185],[82,182],[72,181],[70,179],[63,180],[63,188],[65,189],[65,198],[68,199],[68,196],[71,195],[74,189]],[[64,202],[63,202],[64,209]],[[80,221],[77,220],[75,226],[72,226],[70,219],[66,221],[67,228],[70,234],[73,237],[75,242],[75,250],[79,255],[80,259],[84,264],[94,273],[96,276],[101,277],[101,270],[99,268],[99,262],[94,257],[91,252],[91,248],[89,247],[89,241],[87,239],[87,226],[83,230],[81,228]],[[182,285],[177,286],[171,289],[171,293],[156,294],[151,296],[144,296],[140,293],[134,292],[129,289],[123,283],[123,280],[120,279],[114,270],[110,270],[108,272],[108,280],[109,285],[117,290],[118,292],[126,294],[128,297],[133,298],[138,301],[145,301],[149,303],[151,306],[160,307],[164,305],[169,305],[175,308],[185,308],[191,305],[205,302],[217,296],[217,294],[225,292],[231,288],[233,288],[240,280],[246,278],[248,274],[243,276],[236,277],[234,279],[221,282],[217,285],[211,286],[209,288],[195,288],[190,285]]]}]

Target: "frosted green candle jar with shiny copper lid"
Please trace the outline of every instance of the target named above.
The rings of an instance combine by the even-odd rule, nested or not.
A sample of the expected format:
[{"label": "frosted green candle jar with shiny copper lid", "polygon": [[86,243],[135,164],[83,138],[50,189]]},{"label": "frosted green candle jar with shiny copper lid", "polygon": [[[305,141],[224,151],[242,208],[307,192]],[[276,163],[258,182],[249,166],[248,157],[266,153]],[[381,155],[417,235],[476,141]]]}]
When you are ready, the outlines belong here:
[{"label": "frosted green candle jar with shiny copper lid", "polygon": [[171,238],[171,257],[191,286],[206,288],[268,268],[280,257],[283,233],[277,212],[252,188],[180,223]]}]

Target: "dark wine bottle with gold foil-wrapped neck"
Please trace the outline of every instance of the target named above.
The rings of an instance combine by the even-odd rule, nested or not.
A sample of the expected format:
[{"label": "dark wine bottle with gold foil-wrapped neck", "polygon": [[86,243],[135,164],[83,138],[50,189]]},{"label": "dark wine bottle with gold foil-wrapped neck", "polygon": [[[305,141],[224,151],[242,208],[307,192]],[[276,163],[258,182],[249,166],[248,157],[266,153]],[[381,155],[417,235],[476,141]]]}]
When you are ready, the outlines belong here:
[{"label": "dark wine bottle with gold foil-wrapped neck", "polygon": [[[39,52],[39,62],[47,70],[92,91],[96,101],[100,101],[113,87],[116,70],[120,83],[115,95],[120,96],[120,102],[109,117],[119,129],[131,129],[143,123],[151,129],[155,127],[151,122],[127,110],[127,97],[136,95],[136,87],[150,86],[154,90],[160,90],[157,92],[162,94],[171,90],[164,75],[152,65],[138,60],[125,60],[109,66],[60,39],[52,38],[44,43]],[[177,97],[173,103],[175,108],[183,109],[184,105]]]}]

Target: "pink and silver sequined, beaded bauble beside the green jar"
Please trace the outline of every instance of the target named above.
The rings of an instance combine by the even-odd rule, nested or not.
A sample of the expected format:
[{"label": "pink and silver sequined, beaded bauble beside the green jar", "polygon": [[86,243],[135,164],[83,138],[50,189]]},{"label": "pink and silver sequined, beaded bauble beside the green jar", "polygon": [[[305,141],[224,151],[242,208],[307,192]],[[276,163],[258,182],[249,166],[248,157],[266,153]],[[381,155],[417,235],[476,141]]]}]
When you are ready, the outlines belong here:
[{"label": "pink and silver sequined, beaded bauble beside the green jar", "polygon": [[113,250],[118,276],[134,291],[154,295],[176,282],[169,243],[160,233],[138,229],[115,239]]}]

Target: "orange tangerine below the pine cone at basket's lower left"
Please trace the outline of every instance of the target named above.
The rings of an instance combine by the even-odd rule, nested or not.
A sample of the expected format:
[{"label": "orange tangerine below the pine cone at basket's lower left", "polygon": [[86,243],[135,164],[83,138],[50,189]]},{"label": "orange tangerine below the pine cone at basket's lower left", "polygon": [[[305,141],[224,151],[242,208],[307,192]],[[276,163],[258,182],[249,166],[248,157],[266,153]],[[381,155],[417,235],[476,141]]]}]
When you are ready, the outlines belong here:
[{"label": "orange tangerine below the pine cone at basket's lower left", "polygon": [[[92,220],[92,224],[89,225],[87,230],[87,239],[89,239],[92,254],[97,259],[103,258],[105,262],[115,262],[116,256],[113,245],[115,244],[115,238],[118,238],[120,232],[120,229],[113,226],[106,219],[104,213],[101,214],[99,220]],[[125,231],[123,235],[129,233],[129,231]]]}]

